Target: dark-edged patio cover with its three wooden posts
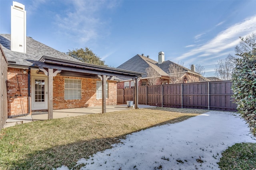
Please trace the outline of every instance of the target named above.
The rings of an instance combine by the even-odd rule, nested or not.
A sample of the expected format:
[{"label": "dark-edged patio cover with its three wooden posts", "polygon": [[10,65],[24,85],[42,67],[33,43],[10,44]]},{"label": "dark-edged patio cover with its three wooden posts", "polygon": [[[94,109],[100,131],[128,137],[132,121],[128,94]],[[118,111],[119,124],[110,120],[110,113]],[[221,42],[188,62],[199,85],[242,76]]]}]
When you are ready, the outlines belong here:
[{"label": "dark-edged patio cover with its three wooden posts", "polygon": [[122,70],[107,66],[68,61],[53,57],[43,56],[39,61],[28,60],[33,63],[30,67],[37,67],[48,76],[48,119],[53,118],[53,77],[74,76],[82,78],[99,78],[102,80],[102,113],[106,113],[106,80],[118,80],[118,77],[132,78],[135,80],[134,103],[138,108],[138,78],[144,73]]}]

